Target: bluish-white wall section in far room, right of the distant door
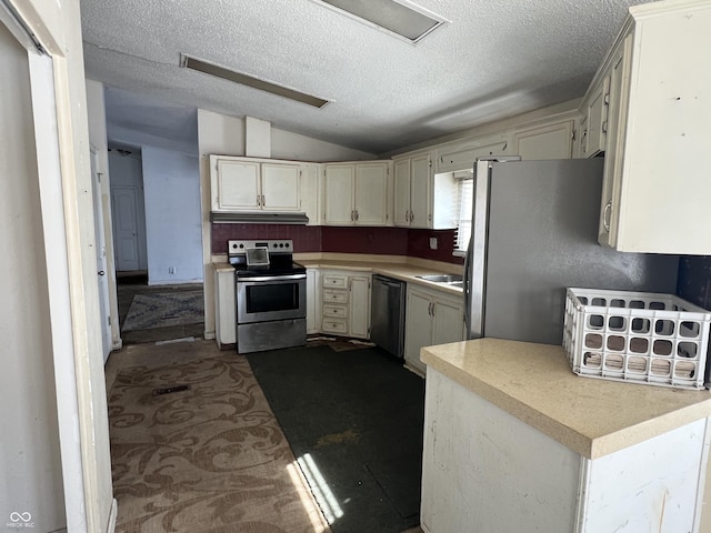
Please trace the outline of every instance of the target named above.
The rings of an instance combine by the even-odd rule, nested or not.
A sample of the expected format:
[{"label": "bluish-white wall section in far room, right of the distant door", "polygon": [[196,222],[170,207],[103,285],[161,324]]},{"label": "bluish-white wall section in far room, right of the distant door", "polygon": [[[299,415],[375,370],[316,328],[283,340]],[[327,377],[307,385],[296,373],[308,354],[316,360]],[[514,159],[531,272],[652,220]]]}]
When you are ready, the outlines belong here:
[{"label": "bluish-white wall section in far room, right of the distant door", "polygon": [[142,158],[148,281],[150,284],[201,282],[198,158],[150,147],[143,147]]}]

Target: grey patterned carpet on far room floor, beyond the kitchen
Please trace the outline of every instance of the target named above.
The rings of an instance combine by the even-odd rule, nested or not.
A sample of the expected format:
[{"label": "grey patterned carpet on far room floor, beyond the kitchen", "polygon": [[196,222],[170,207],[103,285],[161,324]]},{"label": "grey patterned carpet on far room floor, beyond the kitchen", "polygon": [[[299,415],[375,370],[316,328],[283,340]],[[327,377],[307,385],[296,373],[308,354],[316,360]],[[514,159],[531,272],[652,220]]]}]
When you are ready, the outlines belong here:
[{"label": "grey patterned carpet on far room floor, beyond the kitchen", "polygon": [[121,331],[197,324],[203,320],[201,290],[136,294]]}]

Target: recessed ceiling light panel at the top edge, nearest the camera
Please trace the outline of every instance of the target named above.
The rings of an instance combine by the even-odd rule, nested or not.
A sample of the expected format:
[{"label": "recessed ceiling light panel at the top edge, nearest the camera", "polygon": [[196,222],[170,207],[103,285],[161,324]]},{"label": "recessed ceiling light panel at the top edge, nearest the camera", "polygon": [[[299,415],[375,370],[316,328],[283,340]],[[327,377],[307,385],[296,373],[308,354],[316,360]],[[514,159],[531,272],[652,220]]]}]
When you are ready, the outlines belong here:
[{"label": "recessed ceiling light panel at the top edge, nearest the camera", "polygon": [[313,0],[326,7],[418,42],[447,20],[407,0]]}]

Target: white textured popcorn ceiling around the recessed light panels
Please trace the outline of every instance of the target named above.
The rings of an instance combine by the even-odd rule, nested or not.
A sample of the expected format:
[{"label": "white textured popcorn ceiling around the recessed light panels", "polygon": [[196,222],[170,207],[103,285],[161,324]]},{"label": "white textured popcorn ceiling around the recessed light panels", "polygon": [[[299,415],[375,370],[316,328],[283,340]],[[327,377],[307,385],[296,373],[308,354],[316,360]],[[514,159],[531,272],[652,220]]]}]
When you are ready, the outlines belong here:
[{"label": "white textured popcorn ceiling around the recessed light panels", "polygon": [[[418,0],[450,23],[414,46],[316,0],[81,0],[81,12],[90,79],[382,153],[581,97],[635,3]],[[192,72],[180,53],[332,102]],[[138,127],[150,114],[111,113]]]}]

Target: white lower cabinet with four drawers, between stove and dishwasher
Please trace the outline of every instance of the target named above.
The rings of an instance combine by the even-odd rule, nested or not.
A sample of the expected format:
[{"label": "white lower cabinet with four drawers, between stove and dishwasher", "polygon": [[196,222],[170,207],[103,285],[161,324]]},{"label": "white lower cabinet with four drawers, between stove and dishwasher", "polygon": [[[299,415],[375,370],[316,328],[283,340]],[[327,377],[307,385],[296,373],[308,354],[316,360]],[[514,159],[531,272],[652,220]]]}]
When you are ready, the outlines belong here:
[{"label": "white lower cabinet with four drawers, between stove and dishwasher", "polygon": [[321,332],[370,336],[370,274],[322,270]]}]

